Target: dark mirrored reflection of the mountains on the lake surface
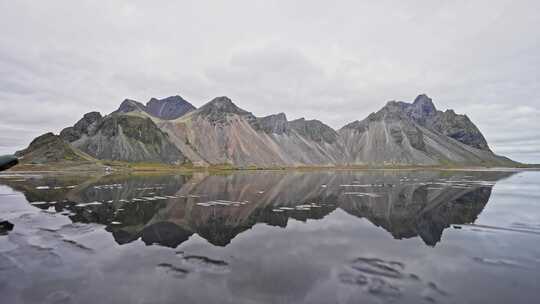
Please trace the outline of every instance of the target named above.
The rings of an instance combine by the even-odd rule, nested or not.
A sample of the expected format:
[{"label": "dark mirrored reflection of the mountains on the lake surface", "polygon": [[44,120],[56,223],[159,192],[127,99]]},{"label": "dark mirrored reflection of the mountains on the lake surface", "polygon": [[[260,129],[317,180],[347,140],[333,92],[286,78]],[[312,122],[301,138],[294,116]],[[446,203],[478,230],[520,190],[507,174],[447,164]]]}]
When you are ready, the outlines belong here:
[{"label": "dark mirrored reflection of the mountains on the lake surface", "polygon": [[197,234],[226,246],[257,223],[286,227],[337,208],[395,239],[435,246],[452,224],[472,223],[508,172],[315,171],[228,175],[45,177],[2,183],[35,207],[106,225],[118,244],[177,247]]}]

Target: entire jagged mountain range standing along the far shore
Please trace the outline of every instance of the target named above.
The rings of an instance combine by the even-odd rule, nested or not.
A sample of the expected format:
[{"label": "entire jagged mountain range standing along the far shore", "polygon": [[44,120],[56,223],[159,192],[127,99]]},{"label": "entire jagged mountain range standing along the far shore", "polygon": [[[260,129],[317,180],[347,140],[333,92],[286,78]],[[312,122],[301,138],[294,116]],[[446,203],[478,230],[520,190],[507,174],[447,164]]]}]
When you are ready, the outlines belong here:
[{"label": "entire jagged mountain range standing along the far shore", "polygon": [[30,163],[93,158],[243,168],[517,164],[494,154],[466,115],[437,110],[424,94],[389,101],[339,130],[284,113],[257,117],[228,97],[200,108],[180,96],[146,105],[126,99],[108,115],[90,112],[59,135],[42,135],[17,155]]}]

